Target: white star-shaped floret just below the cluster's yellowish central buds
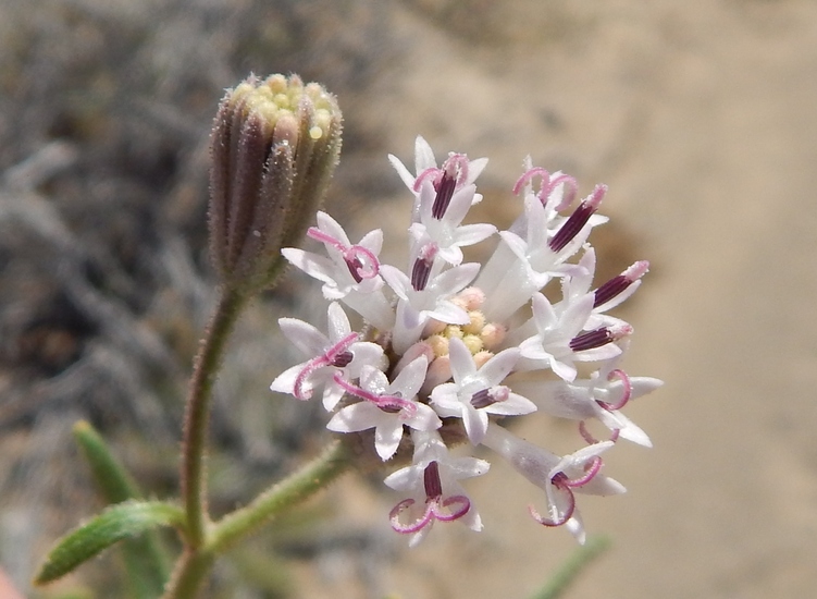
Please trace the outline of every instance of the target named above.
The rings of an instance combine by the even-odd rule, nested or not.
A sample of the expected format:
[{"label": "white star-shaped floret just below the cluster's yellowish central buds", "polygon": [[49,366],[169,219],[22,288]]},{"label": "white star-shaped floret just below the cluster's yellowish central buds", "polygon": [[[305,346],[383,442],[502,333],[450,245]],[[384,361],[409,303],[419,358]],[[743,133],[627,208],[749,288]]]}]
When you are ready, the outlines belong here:
[{"label": "white star-shaped floret just below the cluster's yellowish central buds", "polygon": [[505,350],[479,369],[459,339],[449,341],[448,352],[454,382],[437,386],[431,393],[431,403],[443,417],[462,418],[471,443],[479,445],[485,437],[488,414],[517,416],[536,411],[531,401],[500,384],[517,363],[519,350]]}]

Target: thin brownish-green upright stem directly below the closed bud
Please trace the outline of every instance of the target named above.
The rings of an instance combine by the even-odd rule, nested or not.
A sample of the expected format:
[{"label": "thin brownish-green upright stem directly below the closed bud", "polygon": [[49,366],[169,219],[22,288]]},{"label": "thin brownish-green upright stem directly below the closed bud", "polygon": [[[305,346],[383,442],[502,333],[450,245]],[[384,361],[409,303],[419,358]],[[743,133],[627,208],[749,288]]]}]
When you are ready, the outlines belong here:
[{"label": "thin brownish-green upright stem directly below the closed bud", "polygon": [[225,286],[210,327],[199,346],[185,407],[182,445],[182,498],[187,514],[186,545],[197,549],[205,543],[208,525],[205,457],[210,419],[210,399],[226,341],[246,296]]}]

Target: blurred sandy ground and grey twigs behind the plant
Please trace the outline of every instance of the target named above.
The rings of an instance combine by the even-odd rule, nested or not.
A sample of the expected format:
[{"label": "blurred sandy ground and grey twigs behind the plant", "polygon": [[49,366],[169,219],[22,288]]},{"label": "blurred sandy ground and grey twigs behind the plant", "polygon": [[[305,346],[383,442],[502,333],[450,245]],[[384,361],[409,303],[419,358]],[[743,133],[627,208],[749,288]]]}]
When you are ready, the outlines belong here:
[{"label": "blurred sandy ground and grey twigs behind the plant", "polygon": [[[584,193],[610,185],[612,222],[591,241],[610,272],[652,261],[626,366],[666,386],[628,407],[654,449],[607,460],[629,493],[582,498],[615,547],[568,597],[814,595],[817,3],[2,0],[0,63],[0,563],[18,585],[98,508],[75,419],[173,492],[180,389],[212,302],[208,127],[252,70],[337,94],[329,210],[361,230],[405,208],[385,154],[409,159],[418,133],[491,158],[500,217],[527,154]],[[293,278],[245,321],[214,418],[216,510],[320,442],[304,432],[325,416],[267,392],[292,360],[275,319],[321,309],[315,294]],[[557,424],[522,432],[577,447]],[[315,504],[343,517],[256,542],[292,597],[528,597],[572,539],[530,521],[536,491],[498,462],[472,488],[481,535],[438,526],[407,551],[387,534],[393,498],[349,477]],[[60,588],[104,583],[104,560]],[[242,586],[264,569],[234,557],[213,596],[280,596]]]}]

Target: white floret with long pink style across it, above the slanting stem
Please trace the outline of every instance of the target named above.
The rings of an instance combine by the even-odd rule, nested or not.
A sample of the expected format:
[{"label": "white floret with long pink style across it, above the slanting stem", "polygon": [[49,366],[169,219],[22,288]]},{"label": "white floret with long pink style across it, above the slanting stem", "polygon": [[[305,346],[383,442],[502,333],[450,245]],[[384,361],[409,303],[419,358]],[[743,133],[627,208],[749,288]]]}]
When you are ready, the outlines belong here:
[{"label": "white floret with long pink style across it, above the slanting stem", "polygon": [[434,411],[414,400],[425,380],[429,362],[420,356],[406,366],[389,383],[380,370],[363,366],[360,388],[345,386],[347,392],[363,401],[347,405],[335,414],[326,428],[335,432],[374,429],[374,448],[383,461],[397,451],[404,425],[416,430],[434,430],[442,423]]}]

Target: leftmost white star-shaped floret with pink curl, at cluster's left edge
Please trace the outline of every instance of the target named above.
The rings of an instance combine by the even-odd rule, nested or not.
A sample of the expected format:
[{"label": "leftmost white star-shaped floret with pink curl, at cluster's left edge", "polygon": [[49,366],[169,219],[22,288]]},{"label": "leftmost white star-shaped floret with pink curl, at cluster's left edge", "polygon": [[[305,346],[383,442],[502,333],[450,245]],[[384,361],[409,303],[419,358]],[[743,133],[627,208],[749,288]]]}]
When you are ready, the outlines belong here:
[{"label": "leftmost white star-shaped floret with pink curl, at cluster's left edge", "polygon": [[383,362],[383,347],[360,341],[360,335],[351,332],[349,319],[336,302],[329,306],[329,337],[295,318],[282,318],[278,325],[298,350],[312,357],[278,375],[270,386],[273,391],[308,400],[313,388],[323,384],[323,405],[332,409],[344,393],[335,375],[355,379],[362,366]]}]

